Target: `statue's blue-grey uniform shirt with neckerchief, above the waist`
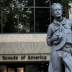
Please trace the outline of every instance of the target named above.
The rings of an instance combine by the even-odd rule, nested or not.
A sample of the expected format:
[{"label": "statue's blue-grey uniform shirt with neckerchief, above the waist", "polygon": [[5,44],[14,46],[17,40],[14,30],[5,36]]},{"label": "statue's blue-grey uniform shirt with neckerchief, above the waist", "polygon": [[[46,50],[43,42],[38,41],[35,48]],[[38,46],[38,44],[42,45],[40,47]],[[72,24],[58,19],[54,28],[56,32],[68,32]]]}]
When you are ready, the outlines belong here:
[{"label": "statue's blue-grey uniform shirt with neckerchief, above the waist", "polygon": [[47,32],[48,44],[52,46],[51,38],[54,35],[59,35],[59,37],[63,36],[63,38],[65,38],[64,44],[65,43],[72,44],[71,27],[72,27],[72,21],[69,19],[64,18],[63,21],[61,22],[54,20],[53,23],[51,23],[48,28],[48,32]]}]

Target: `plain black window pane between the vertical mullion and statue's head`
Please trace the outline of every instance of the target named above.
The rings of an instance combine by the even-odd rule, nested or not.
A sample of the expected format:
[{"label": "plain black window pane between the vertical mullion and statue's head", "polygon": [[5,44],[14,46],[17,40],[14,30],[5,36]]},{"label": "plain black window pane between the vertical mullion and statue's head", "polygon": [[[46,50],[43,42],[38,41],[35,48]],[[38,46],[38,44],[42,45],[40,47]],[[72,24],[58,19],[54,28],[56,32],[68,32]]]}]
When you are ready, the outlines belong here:
[{"label": "plain black window pane between the vertical mullion and statue's head", "polygon": [[36,32],[46,32],[48,24],[50,24],[50,9],[49,8],[36,8]]}]

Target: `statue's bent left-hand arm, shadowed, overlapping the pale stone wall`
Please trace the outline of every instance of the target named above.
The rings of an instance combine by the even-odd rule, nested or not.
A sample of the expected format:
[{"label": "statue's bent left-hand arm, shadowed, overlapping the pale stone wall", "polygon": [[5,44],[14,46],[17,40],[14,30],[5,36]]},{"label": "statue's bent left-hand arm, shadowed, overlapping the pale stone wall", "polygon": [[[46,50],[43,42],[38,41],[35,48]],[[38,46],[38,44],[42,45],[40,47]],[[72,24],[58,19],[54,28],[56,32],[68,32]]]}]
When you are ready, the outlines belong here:
[{"label": "statue's bent left-hand arm, shadowed, overlapping the pale stone wall", "polygon": [[59,35],[60,35],[59,31],[58,30],[55,31],[53,28],[54,28],[54,26],[50,25],[48,27],[48,31],[47,31],[47,44],[49,46],[58,44],[62,39],[62,37],[59,37]]}]

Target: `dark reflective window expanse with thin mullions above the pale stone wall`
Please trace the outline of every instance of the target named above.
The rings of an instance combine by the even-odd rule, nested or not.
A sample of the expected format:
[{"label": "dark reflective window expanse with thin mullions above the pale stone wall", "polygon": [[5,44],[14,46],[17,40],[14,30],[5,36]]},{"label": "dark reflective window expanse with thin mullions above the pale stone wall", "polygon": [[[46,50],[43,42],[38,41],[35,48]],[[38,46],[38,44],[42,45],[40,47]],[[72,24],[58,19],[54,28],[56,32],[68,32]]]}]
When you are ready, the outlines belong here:
[{"label": "dark reflective window expanse with thin mullions above the pale stone wall", "polygon": [[[54,2],[63,4],[63,0],[0,0],[0,33],[46,33]],[[68,17],[68,5],[63,16]]]}]

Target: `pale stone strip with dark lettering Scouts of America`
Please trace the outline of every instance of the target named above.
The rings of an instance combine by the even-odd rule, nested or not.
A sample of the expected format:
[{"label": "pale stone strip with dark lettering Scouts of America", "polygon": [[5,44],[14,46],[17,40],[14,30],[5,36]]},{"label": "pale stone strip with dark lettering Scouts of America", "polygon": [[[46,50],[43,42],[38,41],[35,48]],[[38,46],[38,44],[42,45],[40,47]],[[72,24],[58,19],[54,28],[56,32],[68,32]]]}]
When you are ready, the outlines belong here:
[{"label": "pale stone strip with dark lettering Scouts of America", "polygon": [[33,55],[33,54],[25,54],[25,55],[0,55],[0,61],[48,61],[49,55]]}]

